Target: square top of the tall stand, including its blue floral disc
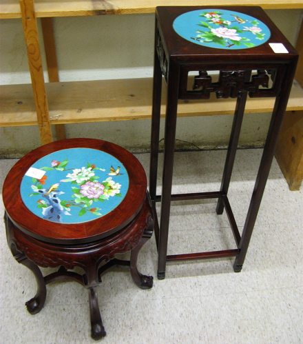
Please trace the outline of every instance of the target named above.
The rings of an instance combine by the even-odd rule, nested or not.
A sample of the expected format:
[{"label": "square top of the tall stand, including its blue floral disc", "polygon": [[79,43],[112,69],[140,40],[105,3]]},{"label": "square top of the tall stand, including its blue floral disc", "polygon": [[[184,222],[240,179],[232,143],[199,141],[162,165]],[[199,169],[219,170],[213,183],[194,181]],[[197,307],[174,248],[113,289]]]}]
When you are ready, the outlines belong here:
[{"label": "square top of the tall stand, including its blue floral disc", "polygon": [[263,61],[278,62],[297,55],[259,7],[163,6],[156,17],[165,53],[173,59],[244,63],[262,55]]}]

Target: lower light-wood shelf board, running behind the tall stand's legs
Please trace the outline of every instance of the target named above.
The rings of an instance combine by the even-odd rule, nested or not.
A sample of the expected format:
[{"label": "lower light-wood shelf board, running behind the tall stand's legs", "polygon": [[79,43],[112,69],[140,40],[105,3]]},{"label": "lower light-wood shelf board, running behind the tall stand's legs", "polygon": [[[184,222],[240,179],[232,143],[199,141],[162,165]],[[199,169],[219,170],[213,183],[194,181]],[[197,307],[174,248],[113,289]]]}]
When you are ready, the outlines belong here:
[{"label": "lower light-wood shelf board, running behind the tall stand's legs", "polygon": [[[151,118],[150,78],[47,83],[46,90],[52,124]],[[233,114],[235,102],[216,99],[214,95],[206,101],[180,101],[178,117]],[[245,112],[271,112],[273,103],[273,98],[249,99]],[[303,110],[303,89],[297,82],[293,84],[287,110]],[[163,104],[161,116],[164,115]],[[0,126],[37,124],[32,85],[1,85]]]}]

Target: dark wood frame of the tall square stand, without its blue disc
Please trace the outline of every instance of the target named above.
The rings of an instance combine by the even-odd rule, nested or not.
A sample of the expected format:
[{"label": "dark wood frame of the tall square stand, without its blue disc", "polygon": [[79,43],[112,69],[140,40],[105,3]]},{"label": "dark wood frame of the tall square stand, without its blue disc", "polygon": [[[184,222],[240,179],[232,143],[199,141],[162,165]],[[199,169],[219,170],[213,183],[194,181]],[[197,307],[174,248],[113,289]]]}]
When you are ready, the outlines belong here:
[{"label": "dark wood frame of the tall square stand, without its blue disc", "polygon": [[[244,50],[221,50],[208,47],[201,47],[180,37],[172,28],[174,19],[184,12],[191,10],[205,9],[208,7],[197,6],[171,6],[159,7],[156,9],[156,34],[155,34],[155,54],[154,54],[154,93],[153,110],[151,124],[151,163],[149,192],[151,201],[161,202],[160,224],[156,219],[156,242],[158,247],[158,279],[165,278],[167,261],[187,261],[191,259],[221,258],[236,256],[233,265],[235,272],[240,272],[244,263],[249,241],[253,232],[255,220],[262,200],[267,177],[271,168],[275,146],[278,141],[282,119],[286,110],[287,101],[291,91],[291,84],[295,74],[298,54],[291,46],[289,41],[282,35],[280,30],[267,17],[267,14],[258,7],[224,7],[211,6],[211,8],[225,8],[236,12],[244,12],[252,17],[260,19],[271,30],[271,38],[267,43],[255,48]],[[269,46],[271,43],[283,43],[288,54],[275,54]],[[218,192],[200,192],[196,194],[171,194],[172,176],[174,167],[174,145],[176,139],[176,120],[178,111],[178,99],[205,99],[205,94],[198,94],[186,91],[187,78],[184,77],[185,71],[191,70],[220,70],[224,72],[243,72],[246,74],[246,81],[252,70],[276,70],[279,77],[273,76],[273,90],[260,90],[257,88],[250,92],[247,88],[239,88],[236,96],[237,104],[231,130],[231,139],[225,162],[222,185]],[[167,82],[167,109],[165,117],[165,143],[164,143],[164,165],[161,196],[156,194],[156,176],[158,171],[158,142],[160,129],[160,103],[162,74]],[[276,74],[277,75],[277,74]],[[261,75],[257,76],[257,78]],[[262,84],[262,81],[261,81]],[[247,95],[250,97],[275,97],[275,106],[269,125],[267,141],[260,162],[258,176],[255,181],[255,188],[249,205],[247,219],[244,224],[242,236],[238,231],[236,221],[229,204],[227,196],[233,162],[236,156],[236,149],[240,135],[242,117],[244,114]],[[220,94],[217,93],[217,97]],[[209,199],[218,198],[216,212],[222,214],[225,209],[236,239],[236,249],[223,250],[218,252],[199,252],[195,254],[178,254],[167,256],[167,240],[169,232],[169,214],[171,201],[183,199]]]}]

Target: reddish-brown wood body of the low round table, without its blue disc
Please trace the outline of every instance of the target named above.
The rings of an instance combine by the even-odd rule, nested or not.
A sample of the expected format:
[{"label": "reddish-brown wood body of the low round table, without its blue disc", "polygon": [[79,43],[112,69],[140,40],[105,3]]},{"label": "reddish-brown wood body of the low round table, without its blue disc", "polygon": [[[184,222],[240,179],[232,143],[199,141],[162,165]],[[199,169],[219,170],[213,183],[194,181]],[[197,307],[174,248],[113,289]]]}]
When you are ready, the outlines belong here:
[{"label": "reddish-brown wood body of the low round table, without its blue disc", "polygon": [[[125,199],[112,212],[86,223],[54,223],[32,214],[23,204],[20,185],[25,172],[41,157],[67,148],[93,148],[115,156],[127,170],[129,189]],[[147,192],[145,171],[125,149],[101,140],[70,139],[56,141],[23,156],[10,170],[3,184],[4,220],[8,246],[19,263],[34,274],[36,295],[25,305],[30,314],[41,311],[46,299],[46,285],[72,280],[87,288],[90,300],[92,338],[103,338],[103,327],[96,287],[101,276],[113,267],[129,268],[134,283],[141,289],[153,286],[152,276],[137,268],[138,253],[154,230],[154,216]],[[129,261],[116,254],[131,252]],[[39,267],[59,267],[43,276]],[[70,271],[81,267],[84,274]]]}]

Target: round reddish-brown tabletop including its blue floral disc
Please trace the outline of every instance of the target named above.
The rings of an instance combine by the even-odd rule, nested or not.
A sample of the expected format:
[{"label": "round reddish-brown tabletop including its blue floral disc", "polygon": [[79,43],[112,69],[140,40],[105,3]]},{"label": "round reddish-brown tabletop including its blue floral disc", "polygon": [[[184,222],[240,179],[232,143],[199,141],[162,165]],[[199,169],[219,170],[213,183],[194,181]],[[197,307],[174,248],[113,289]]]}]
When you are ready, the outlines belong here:
[{"label": "round reddish-brown tabletop including its blue floral disc", "polygon": [[146,189],[143,167],[127,150],[101,140],[67,139],[23,156],[6,177],[3,203],[12,223],[36,239],[87,243],[130,223]]}]

